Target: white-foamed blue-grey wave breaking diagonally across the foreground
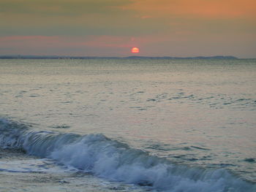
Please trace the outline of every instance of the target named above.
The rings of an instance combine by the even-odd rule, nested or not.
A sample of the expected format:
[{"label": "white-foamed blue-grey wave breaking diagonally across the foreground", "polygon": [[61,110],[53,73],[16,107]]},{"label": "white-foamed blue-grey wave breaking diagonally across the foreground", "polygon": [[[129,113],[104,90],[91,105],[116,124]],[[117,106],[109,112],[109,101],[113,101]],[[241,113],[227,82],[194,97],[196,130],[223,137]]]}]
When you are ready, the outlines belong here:
[{"label": "white-foamed blue-grey wave breaking diagonally across the foreground", "polygon": [[145,185],[159,191],[256,191],[253,183],[225,169],[172,164],[102,134],[33,131],[23,123],[0,119],[0,147],[19,148],[111,181]]}]

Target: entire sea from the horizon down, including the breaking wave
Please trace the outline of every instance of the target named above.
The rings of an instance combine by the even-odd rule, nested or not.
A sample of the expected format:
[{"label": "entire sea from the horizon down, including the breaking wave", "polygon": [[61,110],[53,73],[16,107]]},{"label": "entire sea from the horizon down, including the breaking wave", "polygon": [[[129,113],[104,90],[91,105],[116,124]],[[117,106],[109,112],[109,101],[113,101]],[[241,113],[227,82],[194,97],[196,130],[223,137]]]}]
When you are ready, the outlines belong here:
[{"label": "entire sea from the horizon down, including the breaking wave", "polygon": [[256,191],[255,59],[0,60],[0,191]]}]

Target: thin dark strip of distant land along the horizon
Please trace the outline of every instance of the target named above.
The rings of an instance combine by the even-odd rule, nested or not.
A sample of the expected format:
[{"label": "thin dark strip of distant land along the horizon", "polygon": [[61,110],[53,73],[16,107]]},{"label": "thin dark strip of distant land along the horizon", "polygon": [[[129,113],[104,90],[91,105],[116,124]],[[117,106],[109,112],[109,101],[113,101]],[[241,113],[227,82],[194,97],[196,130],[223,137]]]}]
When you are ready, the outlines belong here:
[{"label": "thin dark strip of distant land along the horizon", "polygon": [[238,59],[234,56],[224,56],[224,55],[216,55],[216,56],[197,56],[197,57],[149,57],[149,56],[128,56],[128,57],[86,57],[86,56],[58,56],[58,55],[0,55],[0,59]]}]

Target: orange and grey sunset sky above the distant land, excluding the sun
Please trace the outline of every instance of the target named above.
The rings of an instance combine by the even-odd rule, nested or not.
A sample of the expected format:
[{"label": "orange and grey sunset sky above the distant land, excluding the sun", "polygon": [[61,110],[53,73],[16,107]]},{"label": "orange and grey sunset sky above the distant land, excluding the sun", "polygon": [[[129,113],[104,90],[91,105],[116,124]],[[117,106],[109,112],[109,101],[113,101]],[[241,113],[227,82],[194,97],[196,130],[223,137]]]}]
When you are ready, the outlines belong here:
[{"label": "orange and grey sunset sky above the distant land, excluding the sun", "polygon": [[0,0],[0,55],[256,58],[256,1]]}]

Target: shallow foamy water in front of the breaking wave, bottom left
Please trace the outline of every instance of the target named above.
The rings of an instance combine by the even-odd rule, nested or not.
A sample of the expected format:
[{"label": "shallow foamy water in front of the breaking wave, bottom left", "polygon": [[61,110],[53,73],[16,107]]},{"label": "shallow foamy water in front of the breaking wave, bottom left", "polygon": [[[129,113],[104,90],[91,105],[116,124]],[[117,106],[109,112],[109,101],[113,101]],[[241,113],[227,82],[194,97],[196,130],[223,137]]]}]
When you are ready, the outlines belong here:
[{"label": "shallow foamy water in front of the breaking wave, bottom left", "polygon": [[[37,166],[34,166],[35,164]],[[48,164],[48,167],[45,164]],[[50,164],[52,164],[52,167]],[[145,191],[143,188],[138,188],[134,185],[111,183],[89,173],[75,172],[68,170],[67,167],[65,168],[58,164],[53,166],[53,164],[53,161],[27,155],[20,150],[0,147],[0,191]],[[45,169],[42,169],[44,166]],[[39,167],[41,168],[40,170]],[[24,174],[26,174],[25,177]]]}]

